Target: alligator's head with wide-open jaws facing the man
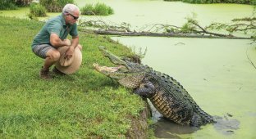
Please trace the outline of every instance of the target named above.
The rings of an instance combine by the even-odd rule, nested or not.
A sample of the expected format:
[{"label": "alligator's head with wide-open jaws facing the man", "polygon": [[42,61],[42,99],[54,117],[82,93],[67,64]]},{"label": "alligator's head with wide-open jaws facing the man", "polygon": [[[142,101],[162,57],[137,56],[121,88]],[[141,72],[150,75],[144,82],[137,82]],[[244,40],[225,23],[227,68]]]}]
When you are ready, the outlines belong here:
[{"label": "alligator's head with wide-open jaws facing the man", "polygon": [[101,66],[94,63],[94,68],[99,73],[106,75],[107,77],[116,79],[124,87],[136,88],[139,87],[140,83],[144,79],[147,66],[139,65],[137,63],[121,59],[118,56],[115,56],[111,52],[108,52],[106,47],[98,47],[103,56],[109,58],[113,64],[117,65],[116,67],[107,67]]}]

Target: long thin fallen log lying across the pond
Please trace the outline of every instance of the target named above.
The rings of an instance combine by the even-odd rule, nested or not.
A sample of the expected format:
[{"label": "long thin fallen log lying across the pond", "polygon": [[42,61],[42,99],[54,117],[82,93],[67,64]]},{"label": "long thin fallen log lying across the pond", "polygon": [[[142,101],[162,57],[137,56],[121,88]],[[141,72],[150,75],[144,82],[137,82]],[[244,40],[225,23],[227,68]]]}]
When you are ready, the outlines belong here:
[{"label": "long thin fallen log lying across the pond", "polygon": [[236,37],[232,35],[214,36],[202,34],[174,34],[174,33],[152,33],[152,32],[122,32],[113,30],[94,30],[95,34],[118,35],[118,36],[151,36],[151,37],[174,37],[174,38],[226,38],[226,39],[252,39]]}]

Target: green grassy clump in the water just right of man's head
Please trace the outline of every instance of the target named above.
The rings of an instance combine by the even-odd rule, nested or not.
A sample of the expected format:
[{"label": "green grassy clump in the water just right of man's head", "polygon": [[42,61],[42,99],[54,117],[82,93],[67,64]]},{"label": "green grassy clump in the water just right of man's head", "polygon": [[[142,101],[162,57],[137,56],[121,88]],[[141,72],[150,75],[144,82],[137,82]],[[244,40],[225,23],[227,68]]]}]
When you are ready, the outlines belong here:
[{"label": "green grassy clump in the water just right of man's head", "polygon": [[114,13],[112,7],[108,7],[105,3],[86,4],[80,9],[82,15],[108,16]]}]

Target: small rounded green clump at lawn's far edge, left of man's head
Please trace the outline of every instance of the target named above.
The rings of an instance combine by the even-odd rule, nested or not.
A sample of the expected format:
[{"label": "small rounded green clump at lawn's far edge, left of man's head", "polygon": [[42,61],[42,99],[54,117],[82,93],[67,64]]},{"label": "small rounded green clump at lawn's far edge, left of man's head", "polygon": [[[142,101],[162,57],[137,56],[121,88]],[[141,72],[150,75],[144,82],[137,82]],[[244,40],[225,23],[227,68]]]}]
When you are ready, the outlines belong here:
[{"label": "small rounded green clump at lawn's far edge, left of man's head", "polygon": [[30,15],[35,17],[43,17],[46,16],[46,8],[37,3],[30,4]]}]

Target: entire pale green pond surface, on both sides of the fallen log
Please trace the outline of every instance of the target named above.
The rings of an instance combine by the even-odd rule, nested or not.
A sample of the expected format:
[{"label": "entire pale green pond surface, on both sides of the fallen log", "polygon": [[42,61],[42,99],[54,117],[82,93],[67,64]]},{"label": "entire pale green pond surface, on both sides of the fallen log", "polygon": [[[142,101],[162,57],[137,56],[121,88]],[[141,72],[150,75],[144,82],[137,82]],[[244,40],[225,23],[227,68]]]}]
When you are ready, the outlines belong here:
[{"label": "entire pale green pond surface, on both sides of the fallen log", "polygon": [[[252,16],[253,7],[237,4],[188,4],[160,0],[76,0],[104,2],[112,7],[112,16],[83,16],[83,20],[129,23],[139,29],[144,25],[181,26],[194,12],[200,25],[213,21],[226,23],[234,18]],[[28,8],[0,11],[0,16],[25,18]],[[48,17],[59,13],[48,13]],[[255,44],[250,40],[208,38],[112,37],[139,52],[147,48],[142,62],[154,70],[176,78],[209,114],[223,121],[201,129],[178,126],[154,112],[154,131],[158,138],[256,138],[256,65]]]}]

